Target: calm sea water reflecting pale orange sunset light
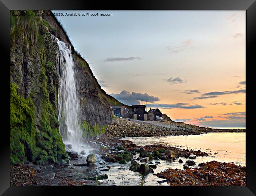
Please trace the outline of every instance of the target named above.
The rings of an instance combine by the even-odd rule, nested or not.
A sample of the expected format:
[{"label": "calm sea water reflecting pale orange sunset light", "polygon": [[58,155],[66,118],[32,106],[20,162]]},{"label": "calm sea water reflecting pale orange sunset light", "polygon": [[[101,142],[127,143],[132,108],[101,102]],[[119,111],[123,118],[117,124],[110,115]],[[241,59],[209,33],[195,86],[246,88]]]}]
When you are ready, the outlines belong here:
[{"label": "calm sea water reflecting pale orange sunset light", "polygon": [[219,162],[233,162],[246,165],[246,133],[205,133],[188,136],[160,136],[123,138],[131,140],[137,145],[163,144],[180,147],[182,149],[210,152],[210,157],[198,157],[197,162],[217,160]]}]

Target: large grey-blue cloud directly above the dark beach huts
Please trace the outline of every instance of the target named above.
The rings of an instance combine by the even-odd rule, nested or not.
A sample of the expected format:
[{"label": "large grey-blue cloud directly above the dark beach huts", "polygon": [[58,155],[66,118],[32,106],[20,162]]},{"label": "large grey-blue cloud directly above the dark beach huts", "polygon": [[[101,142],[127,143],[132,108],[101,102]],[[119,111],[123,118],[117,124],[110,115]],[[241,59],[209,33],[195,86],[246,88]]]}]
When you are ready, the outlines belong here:
[{"label": "large grey-blue cloud directly above the dark beach huts", "polygon": [[160,101],[160,99],[158,97],[149,95],[147,93],[135,93],[135,92],[128,92],[126,90],[123,90],[121,93],[119,94],[114,94],[114,93],[110,93],[109,95],[113,96],[114,98],[116,98],[117,100],[119,100],[119,102],[125,103],[125,104],[140,104],[139,101],[143,101],[146,102],[150,102],[150,103],[154,103],[156,101]]}]

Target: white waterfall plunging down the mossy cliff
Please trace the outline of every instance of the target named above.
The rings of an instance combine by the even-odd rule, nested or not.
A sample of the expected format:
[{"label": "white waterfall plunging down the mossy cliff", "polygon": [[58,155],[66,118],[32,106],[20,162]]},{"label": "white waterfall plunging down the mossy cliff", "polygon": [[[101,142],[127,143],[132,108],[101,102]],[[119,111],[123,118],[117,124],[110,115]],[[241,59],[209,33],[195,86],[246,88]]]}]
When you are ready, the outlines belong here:
[{"label": "white waterfall plunging down the mossy cliff", "polygon": [[82,130],[79,125],[80,103],[76,91],[74,61],[71,46],[57,39],[59,46],[59,69],[61,83],[58,95],[59,131],[63,142],[71,144],[72,149],[80,149]]}]

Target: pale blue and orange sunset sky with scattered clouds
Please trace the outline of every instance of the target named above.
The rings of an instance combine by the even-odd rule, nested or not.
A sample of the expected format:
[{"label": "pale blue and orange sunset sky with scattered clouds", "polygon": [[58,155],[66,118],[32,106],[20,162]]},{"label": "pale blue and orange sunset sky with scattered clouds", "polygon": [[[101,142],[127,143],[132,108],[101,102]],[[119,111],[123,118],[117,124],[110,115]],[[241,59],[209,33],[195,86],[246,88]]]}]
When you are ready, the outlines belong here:
[{"label": "pale blue and orange sunset sky with scattered clouds", "polygon": [[245,11],[53,12],[102,89],[122,103],[147,98],[147,111],[177,122],[246,127]]}]

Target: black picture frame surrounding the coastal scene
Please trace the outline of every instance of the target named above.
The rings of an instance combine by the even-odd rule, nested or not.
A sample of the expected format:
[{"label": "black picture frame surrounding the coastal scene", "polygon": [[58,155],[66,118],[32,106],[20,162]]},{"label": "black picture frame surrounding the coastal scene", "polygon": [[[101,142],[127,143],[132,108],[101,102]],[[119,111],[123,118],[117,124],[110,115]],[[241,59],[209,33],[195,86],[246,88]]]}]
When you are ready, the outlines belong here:
[{"label": "black picture frame surrounding the coastal scene", "polygon": [[[73,10],[246,10],[246,80],[247,80],[247,133],[246,133],[246,166],[247,166],[247,186],[246,187],[154,187],[160,194],[175,194],[174,192],[184,193],[197,196],[200,195],[255,195],[256,194],[256,169],[255,169],[255,145],[252,127],[253,122],[253,65],[255,65],[254,54],[256,51],[256,2],[255,0],[130,0],[130,1],[89,1],[89,0],[0,0],[0,39],[2,48],[1,58],[1,94],[5,101],[2,105],[2,127],[0,142],[0,194],[3,195],[50,195],[60,190],[66,194],[78,194],[78,190],[84,194],[93,191],[110,191],[110,187],[9,187],[9,96],[8,85],[9,74],[9,11],[12,9],[73,9]],[[112,194],[119,194],[120,188],[112,187]],[[135,190],[143,191],[143,194],[152,194],[153,187],[135,187]],[[75,190],[74,190],[75,189]],[[107,191],[108,189],[108,191]],[[117,191],[115,191],[115,190]],[[129,188],[123,187],[127,193],[137,194],[137,192],[129,191]],[[162,191],[167,191],[162,193]],[[148,192],[148,193],[147,193]],[[57,194],[54,193],[54,194]]]}]

